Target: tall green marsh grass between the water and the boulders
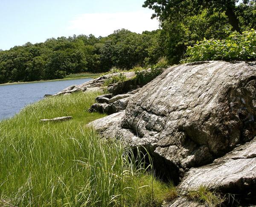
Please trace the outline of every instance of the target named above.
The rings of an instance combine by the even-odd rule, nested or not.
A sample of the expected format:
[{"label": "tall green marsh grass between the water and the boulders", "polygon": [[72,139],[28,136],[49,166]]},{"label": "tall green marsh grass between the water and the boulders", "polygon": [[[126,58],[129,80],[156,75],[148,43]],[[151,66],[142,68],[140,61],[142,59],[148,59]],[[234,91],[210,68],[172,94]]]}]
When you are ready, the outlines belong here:
[{"label": "tall green marsh grass between the water and the boulders", "polygon": [[[87,112],[97,95],[49,97],[0,122],[1,207],[161,206],[169,186],[129,147],[86,127],[104,116]],[[58,116],[74,118],[39,122]]]}]

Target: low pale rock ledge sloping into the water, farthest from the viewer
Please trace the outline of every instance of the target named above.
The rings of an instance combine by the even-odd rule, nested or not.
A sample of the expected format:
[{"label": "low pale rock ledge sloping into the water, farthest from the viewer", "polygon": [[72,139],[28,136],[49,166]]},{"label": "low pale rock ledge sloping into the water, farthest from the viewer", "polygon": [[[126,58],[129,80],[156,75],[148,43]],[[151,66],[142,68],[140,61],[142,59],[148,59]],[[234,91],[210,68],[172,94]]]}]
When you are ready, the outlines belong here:
[{"label": "low pale rock ledge sloping into the water, farthest from the viewer", "polygon": [[[114,73],[114,74],[107,74],[101,77],[98,77],[96,79],[90,80],[89,82],[85,82],[81,85],[71,85],[68,88],[65,88],[64,90],[60,91],[59,93],[53,95],[58,96],[61,94],[72,94],[78,91],[102,91],[102,86],[104,82],[113,76],[118,76],[120,73]],[[127,78],[132,78],[135,76],[134,72],[124,72],[124,74]]]}]

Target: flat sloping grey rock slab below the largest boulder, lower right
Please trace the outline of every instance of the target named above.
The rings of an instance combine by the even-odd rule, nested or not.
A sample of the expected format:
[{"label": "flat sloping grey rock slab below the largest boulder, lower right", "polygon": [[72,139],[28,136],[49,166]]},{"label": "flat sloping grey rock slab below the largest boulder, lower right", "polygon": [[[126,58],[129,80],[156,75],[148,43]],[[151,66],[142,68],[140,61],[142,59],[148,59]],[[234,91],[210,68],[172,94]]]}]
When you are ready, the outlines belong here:
[{"label": "flat sloping grey rock slab below the largest boulder, lower right", "polygon": [[216,159],[212,164],[191,168],[178,186],[180,194],[200,186],[221,192],[256,191],[256,138]]}]

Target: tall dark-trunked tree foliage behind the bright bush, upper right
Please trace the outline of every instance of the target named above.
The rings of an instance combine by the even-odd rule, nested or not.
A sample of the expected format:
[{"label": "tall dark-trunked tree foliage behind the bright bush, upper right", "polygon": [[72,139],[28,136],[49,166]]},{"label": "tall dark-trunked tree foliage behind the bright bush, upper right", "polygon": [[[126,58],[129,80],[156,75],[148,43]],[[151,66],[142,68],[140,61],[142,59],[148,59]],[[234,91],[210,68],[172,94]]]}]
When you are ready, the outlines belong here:
[{"label": "tall dark-trunked tree foliage behind the bright bush, upper right", "polygon": [[256,29],[256,0],[146,0],[162,29],[155,45],[169,64],[184,59],[189,46],[206,39],[225,39],[227,29]]}]

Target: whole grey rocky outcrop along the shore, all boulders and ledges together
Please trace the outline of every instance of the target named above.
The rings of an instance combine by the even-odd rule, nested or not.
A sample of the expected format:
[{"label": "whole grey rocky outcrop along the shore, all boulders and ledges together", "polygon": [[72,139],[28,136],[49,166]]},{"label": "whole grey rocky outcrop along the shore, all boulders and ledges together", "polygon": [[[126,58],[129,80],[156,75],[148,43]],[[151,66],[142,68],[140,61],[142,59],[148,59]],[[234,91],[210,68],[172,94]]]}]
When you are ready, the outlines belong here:
[{"label": "whole grey rocky outcrop along the shore, all boulders and ledges together", "polygon": [[200,186],[256,205],[256,62],[175,65],[143,87],[129,79],[102,89],[113,75],[55,95],[108,90],[90,111],[109,116],[89,126],[148,150],[157,176],[177,184],[166,206],[202,206],[186,197]]}]

